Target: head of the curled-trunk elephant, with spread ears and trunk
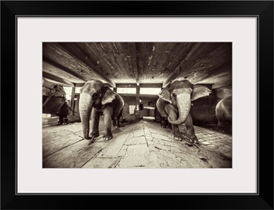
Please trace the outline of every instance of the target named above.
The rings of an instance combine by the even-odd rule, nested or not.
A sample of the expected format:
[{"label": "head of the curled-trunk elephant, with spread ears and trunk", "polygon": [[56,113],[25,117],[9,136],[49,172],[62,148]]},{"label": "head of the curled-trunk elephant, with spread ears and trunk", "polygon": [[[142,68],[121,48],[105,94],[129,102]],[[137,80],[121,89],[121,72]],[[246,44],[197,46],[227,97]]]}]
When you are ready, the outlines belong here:
[{"label": "head of the curled-trunk elephant, with spread ears and trunk", "polygon": [[188,80],[175,80],[164,88],[158,96],[178,109],[178,119],[172,121],[168,118],[169,122],[171,124],[182,124],[190,112],[191,101],[208,96],[210,92],[211,90],[206,86],[193,85]]}]

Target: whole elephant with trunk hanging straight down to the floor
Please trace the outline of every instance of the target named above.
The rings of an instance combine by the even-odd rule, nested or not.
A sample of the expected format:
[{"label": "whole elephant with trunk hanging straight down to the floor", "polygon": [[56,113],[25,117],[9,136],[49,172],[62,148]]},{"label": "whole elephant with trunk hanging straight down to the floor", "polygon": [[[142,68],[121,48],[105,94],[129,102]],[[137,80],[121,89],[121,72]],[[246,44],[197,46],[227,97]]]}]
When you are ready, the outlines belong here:
[{"label": "whole elephant with trunk hanging straight down to the floor", "polygon": [[[83,135],[86,140],[99,136],[99,118],[103,114],[105,135],[103,140],[112,139],[112,123],[120,127],[120,118],[124,106],[123,98],[105,86],[99,80],[87,81],[80,90],[79,114],[82,121]],[[90,114],[91,127],[90,132]]]}]

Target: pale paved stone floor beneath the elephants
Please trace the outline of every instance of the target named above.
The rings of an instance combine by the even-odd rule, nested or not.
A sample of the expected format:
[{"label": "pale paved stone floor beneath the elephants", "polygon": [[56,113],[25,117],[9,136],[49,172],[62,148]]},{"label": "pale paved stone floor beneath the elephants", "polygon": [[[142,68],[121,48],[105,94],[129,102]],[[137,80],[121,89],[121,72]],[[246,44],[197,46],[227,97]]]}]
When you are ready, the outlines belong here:
[{"label": "pale paved stone floor beneath the elephants", "polygon": [[103,141],[102,123],[93,143],[82,137],[81,122],[43,127],[43,168],[232,168],[232,135],[195,126],[200,144],[190,144],[157,122],[136,120]]}]

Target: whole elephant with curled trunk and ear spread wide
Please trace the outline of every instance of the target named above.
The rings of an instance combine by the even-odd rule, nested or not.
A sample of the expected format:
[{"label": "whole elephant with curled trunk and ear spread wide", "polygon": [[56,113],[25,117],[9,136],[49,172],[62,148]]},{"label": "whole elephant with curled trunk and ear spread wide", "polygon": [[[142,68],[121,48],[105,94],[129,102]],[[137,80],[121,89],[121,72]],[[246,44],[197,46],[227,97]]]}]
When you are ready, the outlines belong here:
[{"label": "whole elephant with curled trunk and ear spread wide", "polygon": [[158,94],[156,106],[160,115],[168,118],[171,123],[175,140],[182,141],[178,125],[184,123],[187,129],[186,135],[192,143],[199,142],[190,116],[191,101],[208,96],[210,93],[211,90],[206,86],[193,85],[190,81],[183,79],[173,81]]}]

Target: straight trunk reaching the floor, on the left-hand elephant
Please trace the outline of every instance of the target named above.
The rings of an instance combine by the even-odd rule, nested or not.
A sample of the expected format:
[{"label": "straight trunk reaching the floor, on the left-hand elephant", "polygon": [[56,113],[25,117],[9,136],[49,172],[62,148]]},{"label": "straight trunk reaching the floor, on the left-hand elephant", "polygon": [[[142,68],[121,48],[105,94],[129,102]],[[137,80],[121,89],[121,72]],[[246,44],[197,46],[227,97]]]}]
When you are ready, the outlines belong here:
[{"label": "straight trunk reaching the floor, on the left-hand elephant", "polygon": [[92,111],[92,99],[88,94],[82,94],[79,99],[79,114],[82,122],[83,135],[90,140],[90,113]]}]

